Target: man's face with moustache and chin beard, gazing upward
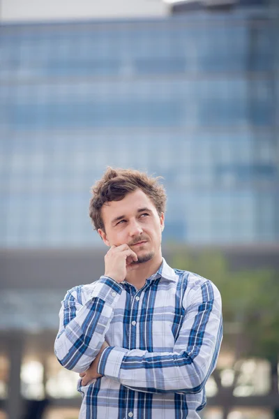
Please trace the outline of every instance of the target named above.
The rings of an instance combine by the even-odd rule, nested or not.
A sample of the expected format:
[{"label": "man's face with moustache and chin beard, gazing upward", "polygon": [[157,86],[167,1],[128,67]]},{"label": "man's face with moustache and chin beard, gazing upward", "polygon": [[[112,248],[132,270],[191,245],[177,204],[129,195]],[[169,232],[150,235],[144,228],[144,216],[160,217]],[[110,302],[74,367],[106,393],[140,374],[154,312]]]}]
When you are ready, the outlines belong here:
[{"label": "man's face with moustache and chin beard, gazing upward", "polygon": [[107,246],[128,246],[137,253],[138,263],[160,257],[164,214],[158,215],[151,199],[141,190],[102,207],[105,232],[98,229]]}]

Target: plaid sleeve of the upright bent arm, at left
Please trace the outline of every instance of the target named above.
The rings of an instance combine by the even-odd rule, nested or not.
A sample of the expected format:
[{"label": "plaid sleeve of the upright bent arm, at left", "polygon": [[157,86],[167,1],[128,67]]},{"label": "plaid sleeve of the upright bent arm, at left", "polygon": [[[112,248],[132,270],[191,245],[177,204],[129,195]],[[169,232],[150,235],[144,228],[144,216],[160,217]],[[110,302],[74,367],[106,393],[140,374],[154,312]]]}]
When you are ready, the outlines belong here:
[{"label": "plaid sleeve of the upright bent arm, at left", "polygon": [[68,291],[61,302],[59,332],[54,352],[60,364],[75,372],[84,372],[96,358],[110,327],[114,307],[122,288],[109,277]]}]

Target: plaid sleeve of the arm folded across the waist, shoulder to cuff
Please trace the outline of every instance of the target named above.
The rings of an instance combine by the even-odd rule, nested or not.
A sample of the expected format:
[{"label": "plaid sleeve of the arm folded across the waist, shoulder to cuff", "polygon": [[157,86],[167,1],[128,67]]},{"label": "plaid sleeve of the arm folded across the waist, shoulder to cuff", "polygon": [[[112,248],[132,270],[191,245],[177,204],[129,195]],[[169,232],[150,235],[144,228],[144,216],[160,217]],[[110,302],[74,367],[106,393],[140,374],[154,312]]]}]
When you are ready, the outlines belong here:
[{"label": "plaid sleeve of the arm folded across the waist, shoulder to cuff", "polygon": [[216,367],[223,338],[221,298],[209,280],[190,293],[171,353],[108,347],[100,357],[98,373],[142,392],[200,392]]}]

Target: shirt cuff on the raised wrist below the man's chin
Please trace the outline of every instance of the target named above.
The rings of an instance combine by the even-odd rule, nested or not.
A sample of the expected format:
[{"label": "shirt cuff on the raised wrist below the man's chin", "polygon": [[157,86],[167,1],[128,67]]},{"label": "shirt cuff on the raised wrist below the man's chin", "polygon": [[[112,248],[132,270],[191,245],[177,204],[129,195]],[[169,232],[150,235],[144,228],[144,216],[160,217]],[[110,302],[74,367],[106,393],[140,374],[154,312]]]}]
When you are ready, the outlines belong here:
[{"label": "shirt cuff on the raised wrist below the man's chin", "polygon": [[110,277],[102,276],[94,286],[91,298],[100,298],[110,305],[116,304],[123,288]]}]

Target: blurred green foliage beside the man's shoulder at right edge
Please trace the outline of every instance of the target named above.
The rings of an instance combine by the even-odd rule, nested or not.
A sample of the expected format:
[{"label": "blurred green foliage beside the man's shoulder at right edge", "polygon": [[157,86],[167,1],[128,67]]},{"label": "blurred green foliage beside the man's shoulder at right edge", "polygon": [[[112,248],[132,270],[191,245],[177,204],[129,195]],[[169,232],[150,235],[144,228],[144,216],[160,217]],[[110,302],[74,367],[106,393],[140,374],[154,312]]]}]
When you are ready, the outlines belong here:
[{"label": "blurred green foliage beside the man's shoulder at right edge", "polygon": [[258,357],[272,361],[279,353],[279,272],[262,267],[238,270],[220,251],[182,249],[172,266],[211,279],[223,300],[223,344],[235,359]]}]

